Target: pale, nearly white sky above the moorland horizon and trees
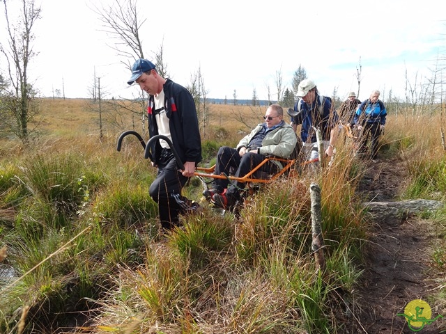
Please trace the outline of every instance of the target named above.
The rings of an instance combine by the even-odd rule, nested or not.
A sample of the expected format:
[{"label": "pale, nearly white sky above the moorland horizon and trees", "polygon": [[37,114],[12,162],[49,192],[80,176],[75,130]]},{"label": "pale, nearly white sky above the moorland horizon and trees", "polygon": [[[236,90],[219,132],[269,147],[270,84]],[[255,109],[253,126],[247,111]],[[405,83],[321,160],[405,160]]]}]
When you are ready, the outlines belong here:
[{"label": "pale, nearly white sky above the moorland horizon and trees", "polygon": [[[100,77],[105,97],[137,95],[123,65],[134,59],[110,47],[117,40],[92,9],[116,0],[35,1],[42,15],[29,77],[40,95],[52,97],[59,89],[66,97],[89,97],[94,77]],[[334,89],[341,99],[357,93],[361,66],[360,100],[374,89],[403,97],[406,73],[410,82],[420,82],[445,65],[446,4],[438,0],[138,0],[137,7],[140,21],[146,19],[140,29],[146,58],[153,61],[162,47],[169,78],[183,86],[200,70],[212,98],[233,100],[235,90],[238,100],[252,99],[256,90],[259,100],[268,100],[270,87],[275,100],[277,73],[282,87],[291,89],[300,65],[321,95]],[[3,4],[1,13],[5,31]],[[6,45],[4,38],[2,33]]]}]

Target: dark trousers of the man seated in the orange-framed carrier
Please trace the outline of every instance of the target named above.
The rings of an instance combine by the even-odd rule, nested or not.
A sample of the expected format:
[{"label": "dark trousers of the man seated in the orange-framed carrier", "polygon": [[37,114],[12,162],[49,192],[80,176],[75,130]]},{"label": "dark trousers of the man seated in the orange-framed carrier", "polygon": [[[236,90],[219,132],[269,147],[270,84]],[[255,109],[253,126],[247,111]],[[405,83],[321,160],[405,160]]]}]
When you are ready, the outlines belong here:
[{"label": "dark trousers of the man seated in the orange-framed carrier", "polygon": [[[231,168],[233,168],[233,170],[236,170],[235,177],[244,177],[256,166],[259,166],[264,159],[264,155],[252,152],[247,152],[240,157],[238,150],[223,146],[218,150],[214,173],[215,175],[220,175],[221,173],[229,175]],[[279,172],[279,167],[274,162],[268,161],[259,170],[269,174],[275,174]],[[215,179],[214,188],[219,192],[227,188],[226,195],[240,198],[240,190],[245,188],[245,182],[236,181],[229,187],[228,184],[229,180],[227,179]]]}]

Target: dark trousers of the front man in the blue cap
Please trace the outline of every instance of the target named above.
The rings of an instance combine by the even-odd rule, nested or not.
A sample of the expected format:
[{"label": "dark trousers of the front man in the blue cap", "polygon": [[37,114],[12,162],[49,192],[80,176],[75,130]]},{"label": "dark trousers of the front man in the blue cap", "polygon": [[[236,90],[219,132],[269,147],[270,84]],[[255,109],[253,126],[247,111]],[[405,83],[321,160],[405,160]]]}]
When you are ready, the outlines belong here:
[{"label": "dark trousers of the front man in the blue cap", "polygon": [[178,172],[176,159],[171,150],[163,149],[158,162],[157,177],[148,189],[151,198],[158,203],[163,228],[170,229],[178,225],[178,215],[190,207],[192,201],[181,196],[181,189],[187,180],[188,177]]}]

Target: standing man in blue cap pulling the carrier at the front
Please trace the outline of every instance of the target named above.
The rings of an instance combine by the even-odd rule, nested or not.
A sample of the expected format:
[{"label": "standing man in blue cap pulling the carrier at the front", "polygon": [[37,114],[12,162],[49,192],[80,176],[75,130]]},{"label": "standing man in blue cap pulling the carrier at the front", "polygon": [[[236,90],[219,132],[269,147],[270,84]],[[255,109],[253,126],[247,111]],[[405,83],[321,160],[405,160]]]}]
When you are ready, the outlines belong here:
[{"label": "standing man in blue cap pulling the carrier at the front", "polygon": [[162,228],[170,230],[179,224],[180,214],[199,212],[199,205],[181,196],[181,189],[194,175],[201,161],[201,137],[197,110],[190,92],[158,74],[151,61],[138,59],[132,66],[131,85],[136,81],[148,93],[148,132],[169,138],[178,153],[184,170],[178,170],[176,159],[166,141],[153,143],[152,164],[158,168],[149,194],[158,203]]}]

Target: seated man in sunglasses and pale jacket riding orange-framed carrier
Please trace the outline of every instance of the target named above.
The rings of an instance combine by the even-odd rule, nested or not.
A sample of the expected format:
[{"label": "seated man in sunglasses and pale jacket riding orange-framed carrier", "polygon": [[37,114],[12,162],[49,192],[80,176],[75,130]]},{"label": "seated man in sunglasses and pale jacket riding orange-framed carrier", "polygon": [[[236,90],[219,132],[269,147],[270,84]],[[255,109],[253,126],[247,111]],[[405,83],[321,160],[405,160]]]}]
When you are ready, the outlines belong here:
[{"label": "seated man in sunglasses and pale jacket riding orange-framed carrier", "polygon": [[[242,138],[236,149],[223,146],[218,150],[215,175],[229,175],[229,169],[234,168],[236,177],[244,177],[254,167],[259,166],[267,155],[289,158],[298,138],[293,127],[284,122],[283,118],[282,106],[270,105],[263,116],[265,122],[257,125],[250,134]],[[269,174],[278,173],[281,169],[282,164],[273,160],[259,168]],[[227,179],[215,179],[213,189],[203,191],[203,196],[212,200],[218,207],[231,209],[240,201],[240,191],[245,188],[245,182],[233,182],[229,187],[228,184]]]}]

